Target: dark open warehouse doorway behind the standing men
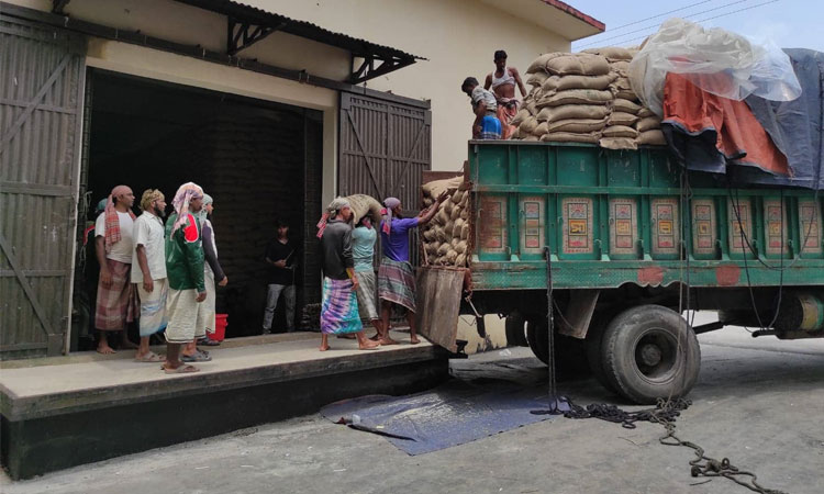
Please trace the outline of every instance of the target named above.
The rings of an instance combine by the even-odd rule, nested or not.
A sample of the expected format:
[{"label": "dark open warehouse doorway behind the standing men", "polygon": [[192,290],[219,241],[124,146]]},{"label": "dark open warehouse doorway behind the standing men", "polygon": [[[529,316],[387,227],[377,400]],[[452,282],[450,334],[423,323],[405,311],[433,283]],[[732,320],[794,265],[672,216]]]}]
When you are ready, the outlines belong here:
[{"label": "dark open warehouse doorway behind the standing men", "polygon": [[[276,236],[276,221],[285,221],[299,246],[300,326],[305,307],[321,295],[312,228],[322,209],[322,112],[98,69],[89,71],[87,85],[81,218],[93,222],[94,205],[121,183],[134,191],[136,214],[145,189],[163,191],[170,212],[181,183],[203,187],[214,198],[212,223],[229,278],[227,287],[218,290],[218,313],[229,314],[229,337],[260,334],[264,251]],[[89,313],[78,333],[91,336],[93,242],[83,250],[75,300]],[[275,332],[285,327],[282,312],[281,306]]]}]

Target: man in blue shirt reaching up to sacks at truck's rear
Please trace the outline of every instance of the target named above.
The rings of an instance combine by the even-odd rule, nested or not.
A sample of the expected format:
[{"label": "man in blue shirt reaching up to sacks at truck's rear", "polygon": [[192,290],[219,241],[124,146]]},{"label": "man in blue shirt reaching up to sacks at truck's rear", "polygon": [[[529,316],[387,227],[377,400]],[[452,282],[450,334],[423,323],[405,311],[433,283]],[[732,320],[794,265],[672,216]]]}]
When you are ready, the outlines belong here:
[{"label": "man in blue shirt reaching up to sacks at truck's rear", "polygon": [[383,201],[383,218],[380,222],[380,239],[383,257],[378,269],[378,296],[380,297],[380,315],[382,332],[379,339],[381,345],[398,345],[389,337],[389,313],[392,304],[407,308],[410,343],[417,345],[415,327],[415,273],[409,262],[409,231],[431,222],[442,202],[446,200],[444,191],[430,209],[421,211],[415,217],[404,218],[401,201],[387,198]]}]

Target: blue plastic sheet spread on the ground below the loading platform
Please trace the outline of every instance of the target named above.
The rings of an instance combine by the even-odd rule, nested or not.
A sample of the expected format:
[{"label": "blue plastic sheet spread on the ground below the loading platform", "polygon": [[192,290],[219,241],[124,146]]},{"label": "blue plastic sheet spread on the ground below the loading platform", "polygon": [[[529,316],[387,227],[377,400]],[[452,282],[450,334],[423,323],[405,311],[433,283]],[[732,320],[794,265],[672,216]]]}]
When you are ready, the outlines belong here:
[{"label": "blue plastic sheet spread on the ground below the loading platform", "polygon": [[414,456],[557,417],[530,413],[547,407],[546,386],[453,380],[409,396],[344,400],[326,405],[321,415],[335,423],[344,418],[358,430],[379,434]]}]

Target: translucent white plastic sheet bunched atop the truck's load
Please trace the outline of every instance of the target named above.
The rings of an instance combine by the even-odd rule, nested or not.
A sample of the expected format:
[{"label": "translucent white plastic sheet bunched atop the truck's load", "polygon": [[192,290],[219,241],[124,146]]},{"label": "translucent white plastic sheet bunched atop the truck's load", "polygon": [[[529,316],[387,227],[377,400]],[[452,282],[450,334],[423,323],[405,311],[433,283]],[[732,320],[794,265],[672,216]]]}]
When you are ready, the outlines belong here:
[{"label": "translucent white plastic sheet bunched atop the truck's load", "polygon": [[702,90],[741,101],[750,94],[791,101],[801,86],[789,57],[771,43],[757,44],[722,29],[704,30],[682,19],[661,24],[630,64],[633,91],[664,116],[668,72],[681,74]]}]

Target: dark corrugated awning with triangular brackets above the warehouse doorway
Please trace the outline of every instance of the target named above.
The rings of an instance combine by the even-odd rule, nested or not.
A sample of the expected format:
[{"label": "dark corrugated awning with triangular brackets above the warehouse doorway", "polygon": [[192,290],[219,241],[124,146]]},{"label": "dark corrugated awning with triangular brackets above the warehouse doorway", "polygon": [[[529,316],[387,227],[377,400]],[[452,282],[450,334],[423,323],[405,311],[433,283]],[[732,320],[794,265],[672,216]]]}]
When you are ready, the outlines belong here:
[{"label": "dark corrugated awning with triangular brackets above the warehouse doorway", "polygon": [[[347,82],[357,85],[400,68],[425,60],[398,48],[325,30],[311,22],[299,21],[246,3],[231,0],[176,0],[226,16],[226,54],[242,49],[274,32],[281,32],[345,49],[352,54],[353,66]],[[359,64],[355,67],[355,59]]]}]

